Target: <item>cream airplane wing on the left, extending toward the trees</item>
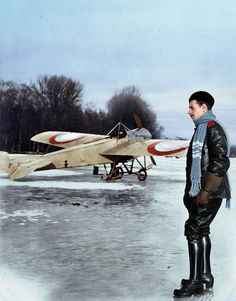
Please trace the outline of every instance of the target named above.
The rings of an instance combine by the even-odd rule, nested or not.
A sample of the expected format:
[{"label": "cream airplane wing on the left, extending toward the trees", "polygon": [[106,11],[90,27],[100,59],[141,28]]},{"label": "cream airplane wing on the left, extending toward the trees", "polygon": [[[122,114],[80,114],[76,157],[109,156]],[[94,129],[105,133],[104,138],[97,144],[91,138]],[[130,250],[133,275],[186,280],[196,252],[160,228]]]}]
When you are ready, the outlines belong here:
[{"label": "cream airplane wing on the left, extending toward the trees", "polygon": [[74,132],[43,132],[31,138],[32,141],[68,148],[80,144],[87,144],[102,139],[108,139],[107,135],[95,135]]}]

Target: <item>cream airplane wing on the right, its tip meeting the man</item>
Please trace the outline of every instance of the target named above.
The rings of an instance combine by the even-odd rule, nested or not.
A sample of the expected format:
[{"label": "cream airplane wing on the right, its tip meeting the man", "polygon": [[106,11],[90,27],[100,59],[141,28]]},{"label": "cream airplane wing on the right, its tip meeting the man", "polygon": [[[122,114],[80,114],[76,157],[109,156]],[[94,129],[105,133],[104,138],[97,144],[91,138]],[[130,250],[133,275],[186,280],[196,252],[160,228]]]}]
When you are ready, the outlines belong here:
[{"label": "cream airplane wing on the right, its tip meeting the man", "polygon": [[186,140],[128,141],[101,153],[101,155],[105,157],[131,156],[134,158],[139,156],[181,157],[186,155],[188,146],[189,141]]}]

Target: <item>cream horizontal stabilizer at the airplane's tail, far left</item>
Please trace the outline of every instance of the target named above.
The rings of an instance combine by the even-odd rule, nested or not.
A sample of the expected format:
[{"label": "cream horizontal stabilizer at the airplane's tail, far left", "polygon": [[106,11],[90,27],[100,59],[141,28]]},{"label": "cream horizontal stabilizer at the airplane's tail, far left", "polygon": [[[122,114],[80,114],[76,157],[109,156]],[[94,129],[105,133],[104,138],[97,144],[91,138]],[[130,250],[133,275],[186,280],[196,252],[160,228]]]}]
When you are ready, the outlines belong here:
[{"label": "cream horizontal stabilizer at the airplane's tail, far left", "polygon": [[33,162],[13,163],[8,170],[8,174],[11,179],[20,179],[35,169],[45,167],[50,163],[52,161],[46,158],[36,159]]}]

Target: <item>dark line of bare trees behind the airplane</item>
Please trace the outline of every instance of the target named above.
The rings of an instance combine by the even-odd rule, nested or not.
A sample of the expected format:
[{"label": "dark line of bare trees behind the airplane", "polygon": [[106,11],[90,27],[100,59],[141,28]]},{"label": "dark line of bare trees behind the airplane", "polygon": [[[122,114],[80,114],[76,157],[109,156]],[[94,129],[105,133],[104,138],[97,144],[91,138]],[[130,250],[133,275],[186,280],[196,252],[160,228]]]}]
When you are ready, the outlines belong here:
[{"label": "dark line of bare trees behind the airplane", "polygon": [[84,105],[83,91],[83,84],[65,76],[41,76],[31,84],[0,80],[0,150],[48,151],[48,146],[30,141],[44,131],[107,134],[118,122],[135,128],[133,113],[153,138],[160,137],[163,128],[137,87],[117,92],[106,110]]}]

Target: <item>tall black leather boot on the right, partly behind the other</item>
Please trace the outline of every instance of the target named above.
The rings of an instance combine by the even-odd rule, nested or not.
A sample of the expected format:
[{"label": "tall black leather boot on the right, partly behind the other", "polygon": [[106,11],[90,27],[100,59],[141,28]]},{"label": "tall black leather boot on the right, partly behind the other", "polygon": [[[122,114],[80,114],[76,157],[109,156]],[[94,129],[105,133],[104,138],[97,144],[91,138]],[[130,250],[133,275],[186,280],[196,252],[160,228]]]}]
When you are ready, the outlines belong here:
[{"label": "tall black leather boot on the right, partly behind the other", "polygon": [[210,253],[211,253],[211,240],[209,235],[203,236],[203,262],[202,262],[202,281],[206,286],[206,289],[212,289],[214,284],[214,277],[211,274],[211,263],[210,263]]}]

